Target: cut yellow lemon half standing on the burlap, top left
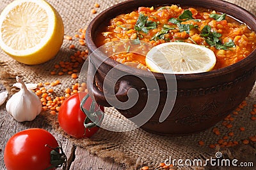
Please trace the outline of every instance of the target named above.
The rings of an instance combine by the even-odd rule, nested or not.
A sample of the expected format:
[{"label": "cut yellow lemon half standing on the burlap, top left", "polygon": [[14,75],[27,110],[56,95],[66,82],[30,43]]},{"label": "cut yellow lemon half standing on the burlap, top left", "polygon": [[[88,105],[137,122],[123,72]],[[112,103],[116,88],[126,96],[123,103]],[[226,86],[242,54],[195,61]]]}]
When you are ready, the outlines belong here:
[{"label": "cut yellow lemon half standing on the burlap, top left", "polygon": [[16,0],[0,15],[0,46],[24,64],[41,64],[61,48],[64,25],[60,14],[44,0]]}]

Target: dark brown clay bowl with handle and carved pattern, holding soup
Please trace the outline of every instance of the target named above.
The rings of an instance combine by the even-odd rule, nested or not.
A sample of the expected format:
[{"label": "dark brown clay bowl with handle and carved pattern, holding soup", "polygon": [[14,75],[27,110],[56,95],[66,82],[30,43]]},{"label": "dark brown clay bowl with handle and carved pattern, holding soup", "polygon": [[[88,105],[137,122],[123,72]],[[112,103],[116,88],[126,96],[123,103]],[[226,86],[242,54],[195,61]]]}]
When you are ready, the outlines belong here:
[{"label": "dark brown clay bowl with handle and carved pattern, holding soup", "polygon": [[[86,31],[88,49],[90,52],[97,49],[95,42],[97,42],[96,36],[100,28],[107,24],[111,18],[116,17],[116,15],[129,13],[138,9],[140,6],[151,7],[166,4],[202,7],[227,13],[246,23],[253,31],[256,31],[256,17],[254,15],[235,4],[225,1],[130,0],[108,8],[90,22]],[[90,57],[90,63],[93,66],[95,64],[100,64],[100,66],[97,67],[97,72],[93,75],[93,83],[92,85],[88,85],[88,90],[92,92],[97,103],[103,106],[111,106],[105,97],[108,92],[102,93],[102,84],[106,80],[106,74],[119,63],[115,60],[106,59],[105,57],[102,53],[95,53],[93,57]],[[164,76],[161,73],[151,73],[150,71],[134,69],[121,64],[120,67],[113,69],[114,71],[112,70],[113,72],[111,72],[108,80],[104,83],[109,83],[110,85],[111,81],[114,81],[119,74],[125,74],[122,78],[118,78],[118,81],[115,83],[115,94],[112,93],[110,96],[114,95],[113,97],[116,96],[117,99],[125,102],[128,99],[128,90],[137,90],[139,95],[137,103],[129,109],[118,109],[122,115],[131,118],[143,110],[145,104],[147,104],[148,97],[157,98],[157,96],[154,96],[154,93],[149,93],[154,88],[150,89],[146,87],[143,80],[141,80],[141,78],[148,80],[152,78],[150,75],[154,74],[159,84],[160,100],[159,104],[157,104],[156,111],[154,111],[154,115],[141,128],[156,134],[184,135],[204,131],[220,122],[220,120],[236,109],[252,90],[256,76],[255,66],[256,50],[248,55],[246,59],[232,66],[206,73],[176,74],[177,96],[172,112],[164,122],[159,122],[159,117],[166,103],[166,79],[168,79],[168,76]],[[173,78],[173,75],[169,76],[170,79]],[[118,108],[118,106],[114,107]]]}]

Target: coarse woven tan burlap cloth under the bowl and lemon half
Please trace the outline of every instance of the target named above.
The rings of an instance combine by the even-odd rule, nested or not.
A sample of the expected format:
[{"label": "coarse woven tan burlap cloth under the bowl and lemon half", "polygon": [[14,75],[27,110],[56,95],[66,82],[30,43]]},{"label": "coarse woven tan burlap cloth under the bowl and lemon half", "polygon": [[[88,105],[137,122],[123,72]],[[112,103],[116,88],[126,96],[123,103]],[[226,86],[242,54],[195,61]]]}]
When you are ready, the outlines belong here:
[{"label": "coarse woven tan burlap cloth under the bowl and lemon half", "polygon": [[[10,3],[12,0],[1,0],[0,11]],[[65,24],[65,34],[74,36],[79,28],[84,28],[93,17],[100,11],[112,6],[123,0],[77,0],[77,1],[55,1],[49,0],[60,13]],[[256,15],[256,1],[253,0],[228,0],[232,3],[242,6],[248,11],[251,11]],[[95,8],[94,4],[99,3],[100,8]],[[96,14],[92,14],[92,9],[97,10]],[[60,60],[68,60],[69,56],[72,55],[76,50],[70,50],[68,46],[75,44],[77,50],[84,50],[86,47],[80,46],[78,41],[64,40],[63,46],[61,47],[58,55],[38,66],[26,66],[20,64],[15,60],[8,57],[3,51],[0,51],[0,71],[1,81],[8,90],[15,79],[14,76],[21,76],[24,81],[28,83],[38,82],[52,82],[54,80],[60,80],[61,85],[54,87],[56,96],[63,96],[64,89],[70,87],[70,85],[77,82],[70,77],[70,75],[63,76],[52,76],[50,73],[54,67],[54,64],[58,64]],[[255,87],[256,88],[256,87]],[[250,111],[253,110],[253,104],[256,104],[256,89],[253,88],[250,95],[246,98],[248,103],[241,111],[238,111],[239,115],[232,115],[235,120],[232,122],[233,127],[227,129],[221,125],[221,122],[216,125],[220,129],[220,136],[216,136],[209,129],[199,134],[192,134],[189,136],[171,137],[171,136],[159,136],[156,134],[150,134],[141,129],[135,129],[129,132],[111,132],[104,129],[100,129],[95,136],[91,139],[74,139],[67,136],[70,141],[73,141],[76,145],[89,150],[92,153],[97,154],[99,157],[111,157],[115,159],[117,163],[124,164],[126,169],[139,169],[141,166],[150,166],[152,169],[157,169],[160,162],[169,159],[209,159],[215,157],[216,150],[220,150],[223,156],[229,159],[238,159],[240,162],[254,162],[255,167],[250,169],[256,169],[255,162],[255,145],[250,143],[244,145],[243,139],[248,139],[249,136],[254,136],[256,130],[256,122],[251,120]],[[45,118],[48,118],[49,124],[56,129],[61,131],[58,127],[56,117],[50,117],[49,113],[42,113]],[[106,114],[113,115],[113,117],[119,117],[119,113],[113,108],[107,108]],[[244,132],[239,131],[239,127],[244,127]],[[222,136],[227,135],[228,132],[234,132],[234,136],[230,136],[230,141],[238,141],[238,146],[230,148],[209,148],[212,143],[217,143],[218,139]],[[64,134],[64,133],[63,133]],[[198,141],[204,141],[205,145],[198,145]],[[210,169],[210,167],[178,167],[181,169]],[[232,169],[232,167],[212,167],[212,169]],[[238,168],[239,169],[239,168]]]}]

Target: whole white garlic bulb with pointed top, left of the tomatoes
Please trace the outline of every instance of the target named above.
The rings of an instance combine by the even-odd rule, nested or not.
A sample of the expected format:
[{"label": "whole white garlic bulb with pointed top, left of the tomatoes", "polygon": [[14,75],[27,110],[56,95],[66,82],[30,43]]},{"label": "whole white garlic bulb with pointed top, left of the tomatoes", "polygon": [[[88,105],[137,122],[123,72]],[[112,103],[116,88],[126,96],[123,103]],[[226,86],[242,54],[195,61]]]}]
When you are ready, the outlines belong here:
[{"label": "whole white garlic bulb with pointed top, left of the tomatoes", "polygon": [[20,83],[20,91],[7,101],[6,110],[18,122],[34,120],[42,110],[42,103],[35,93],[27,89],[21,78],[17,76],[16,80]]}]

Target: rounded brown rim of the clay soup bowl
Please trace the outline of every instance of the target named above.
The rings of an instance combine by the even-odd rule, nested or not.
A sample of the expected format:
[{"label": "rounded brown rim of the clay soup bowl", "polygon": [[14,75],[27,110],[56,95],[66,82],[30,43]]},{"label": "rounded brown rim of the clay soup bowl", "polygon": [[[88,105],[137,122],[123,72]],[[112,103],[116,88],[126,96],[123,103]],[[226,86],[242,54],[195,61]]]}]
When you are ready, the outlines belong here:
[{"label": "rounded brown rim of the clay soup bowl", "polygon": [[[147,0],[147,1],[152,1],[152,0]],[[97,20],[99,19],[102,19],[104,18],[104,16],[108,16],[109,13],[113,13],[113,11],[115,11],[116,9],[120,8],[120,6],[127,6],[127,5],[131,5],[131,4],[134,4],[134,9],[136,9],[136,5],[137,6],[141,6],[141,5],[138,5],[140,3],[138,3],[139,1],[138,0],[127,0],[127,1],[123,1],[121,3],[118,3],[118,4],[115,4],[109,8],[107,8],[106,10],[102,11],[101,13],[99,13],[99,15],[97,15],[95,18],[93,18],[93,20],[90,22],[90,24],[88,25],[87,29],[86,29],[86,45],[88,46],[88,50],[90,52],[94,52],[96,49],[97,49],[97,46],[95,45],[94,41],[93,41],[93,28],[95,26],[95,22],[97,22]],[[173,3],[173,2],[179,2],[179,3]],[[191,6],[195,6],[193,5],[193,2],[197,2],[197,3],[202,3],[201,0],[191,0],[190,2],[191,3]],[[246,23],[246,22],[243,22],[243,19],[239,19],[237,17],[234,17],[232,15],[230,15],[231,17],[234,17],[236,18],[237,20],[245,23],[246,25],[249,25],[250,24],[254,24],[255,25],[255,31],[256,32],[256,16],[253,15],[252,13],[250,13],[250,11],[248,10],[245,10],[244,8],[242,8],[241,6],[237,6],[237,4],[233,4],[233,3],[229,3],[227,1],[221,1],[221,0],[204,0],[204,3],[205,4],[209,4],[209,9],[212,9],[212,7],[210,6],[210,4],[214,4],[215,6],[216,5],[223,5],[223,6],[228,6],[228,7],[232,7],[237,13],[241,12],[243,13],[244,15],[248,16],[247,18],[250,18],[251,20],[254,19],[254,22],[253,23]],[[145,6],[148,6],[147,3],[144,3]],[[186,3],[184,5],[184,1],[178,1],[178,0],[169,0],[168,1],[168,4],[177,4],[177,5],[180,5],[180,6],[186,6]],[[166,3],[163,3],[162,1],[157,1],[157,4],[156,5],[168,5]],[[137,7],[138,8],[138,7]],[[214,9],[212,9],[214,10]],[[129,11],[132,11],[132,9],[129,9]],[[216,10],[218,11],[218,10]],[[221,12],[221,11],[220,11]],[[117,15],[120,15],[121,13],[124,13],[122,11],[118,11],[118,13],[116,13],[115,16]],[[229,13],[227,13],[227,15],[229,15]],[[115,17],[113,16],[113,17]],[[237,15],[238,16],[238,15]],[[106,19],[106,17],[105,17]],[[109,20],[109,18],[108,18]],[[251,28],[252,29],[252,28]],[[96,55],[97,59],[98,60],[104,60],[104,63],[105,64],[108,64],[109,66],[111,67],[115,67],[116,65],[120,64],[119,62],[115,61],[115,60],[112,60],[112,59],[106,59],[104,57],[102,57],[101,55]],[[240,60],[239,62],[236,62],[235,64],[232,64],[230,66],[227,66],[227,67],[223,67],[223,68],[220,68],[220,69],[215,69],[215,70],[212,70],[212,71],[207,71],[207,72],[204,72],[204,73],[191,73],[191,74],[175,74],[175,77],[177,80],[195,80],[197,78],[200,78],[200,79],[207,79],[207,78],[213,78],[213,77],[216,77],[216,76],[221,76],[223,74],[228,74],[228,73],[232,73],[234,72],[236,69],[239,69],[241,67],[246,67],[246,65],[250,62],[253,62],[254,60],[256,60],[256,49],[253,50],[253,52],[251,52],[246,58]],[[125,64],[122,64],[124,67],[122,67],[122,69],[120,69],[121,71],[124,71],[126,73],[131,73],[131,74],[135,74],[135,75],[138,75],[138,76],[146,76],[146,77],[150,77],[152,76],[152,74],[154,74],[154,76],[158,79],[164,79],[166,76],[165,73],[156,73],[156,72],[151,72],[151,73],[148,73],[150,71],[145,71],[145,70],[142,70],[142,69],[134,69],[129,66],[126,66]],[[255,64],[256,66],[256,64]],[[136,70],[136,71],[134,71]],[[168,74],[167,74],[168,75]]]}]

